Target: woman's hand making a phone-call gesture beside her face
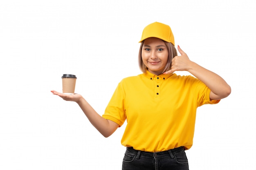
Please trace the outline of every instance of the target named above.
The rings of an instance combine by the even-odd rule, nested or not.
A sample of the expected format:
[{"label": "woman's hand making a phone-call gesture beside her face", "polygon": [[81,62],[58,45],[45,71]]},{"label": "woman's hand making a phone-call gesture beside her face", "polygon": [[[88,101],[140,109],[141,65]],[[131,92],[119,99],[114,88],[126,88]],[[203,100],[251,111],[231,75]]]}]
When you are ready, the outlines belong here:
[{"label": "woman's hand making a phone-call gesture beside her face", "polygon": [[164,72],[164,74],[171,74],[175,71],[188,71],[190,68],[191,61],[189,57],[186,55],[180,46],[178,46],[178,51],[181,55],[175,56],[172,60],[171,70]]}]

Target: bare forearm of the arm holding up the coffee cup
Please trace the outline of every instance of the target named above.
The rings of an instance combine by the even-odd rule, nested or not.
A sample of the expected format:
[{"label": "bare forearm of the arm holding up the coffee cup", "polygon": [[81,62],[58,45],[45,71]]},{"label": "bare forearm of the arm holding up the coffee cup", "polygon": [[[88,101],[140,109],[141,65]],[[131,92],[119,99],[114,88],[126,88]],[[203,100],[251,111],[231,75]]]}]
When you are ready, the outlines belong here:
[{"label": "bare forearm of the arm holding up the coffee cup", "polygon": [[104,136],[109,137],[117,129],[117,124],[99,115],[90,104],[82,97],[77,104],[83,110],[91,124]]}]

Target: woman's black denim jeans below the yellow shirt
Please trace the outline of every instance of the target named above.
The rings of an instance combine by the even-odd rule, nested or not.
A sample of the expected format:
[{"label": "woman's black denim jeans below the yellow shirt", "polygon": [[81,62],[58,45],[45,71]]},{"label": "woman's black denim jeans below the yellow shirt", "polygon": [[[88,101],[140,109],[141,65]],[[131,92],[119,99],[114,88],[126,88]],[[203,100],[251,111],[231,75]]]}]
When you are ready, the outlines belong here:
[{"label": "woman's black denim jeans below the yellow shirt", "polygon": [[189,170],[184,147],[163,152],[144,152],[128,147],[122,170]]}]

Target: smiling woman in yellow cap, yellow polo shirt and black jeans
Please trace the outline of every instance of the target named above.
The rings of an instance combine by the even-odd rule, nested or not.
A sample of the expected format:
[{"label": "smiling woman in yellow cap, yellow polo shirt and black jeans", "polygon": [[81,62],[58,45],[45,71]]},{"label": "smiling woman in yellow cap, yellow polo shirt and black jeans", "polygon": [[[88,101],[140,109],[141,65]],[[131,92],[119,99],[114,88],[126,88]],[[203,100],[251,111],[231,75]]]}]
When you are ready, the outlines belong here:
[{"label": "smiling woman in yellow cap, yellow polo shirt and black jeans", "polygon": [[[139,42],[143,73],[121,80],[103,116],[79,94],[52,93],[79,104],[104,137],[127,121],[121,139],[127,147],[123,170],[188,170],[184,150],[193,144],[197,107],[217,104],[231,88],[219,75],[189,60],[179,46],[177,56],[170,26],[149,24]],[[196,78],[175,71],[188,71]]]}]

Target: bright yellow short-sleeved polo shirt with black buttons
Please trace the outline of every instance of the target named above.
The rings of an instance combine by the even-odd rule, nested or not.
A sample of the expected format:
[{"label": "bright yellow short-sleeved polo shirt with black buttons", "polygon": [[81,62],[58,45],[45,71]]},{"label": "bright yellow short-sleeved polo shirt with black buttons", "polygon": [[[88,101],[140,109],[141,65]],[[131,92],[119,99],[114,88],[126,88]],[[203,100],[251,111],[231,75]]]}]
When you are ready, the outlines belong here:
[{"label": "bright yellow short-sleeved polo shirt with black buttons", "polygon": [[119,126],[127,119],[121,144],[136,150],[159,152],[191,148],[198,106],[216,104],[210,89],[192,76],[146,73],[124,78],[103,117]]}]

